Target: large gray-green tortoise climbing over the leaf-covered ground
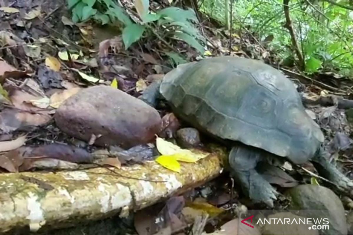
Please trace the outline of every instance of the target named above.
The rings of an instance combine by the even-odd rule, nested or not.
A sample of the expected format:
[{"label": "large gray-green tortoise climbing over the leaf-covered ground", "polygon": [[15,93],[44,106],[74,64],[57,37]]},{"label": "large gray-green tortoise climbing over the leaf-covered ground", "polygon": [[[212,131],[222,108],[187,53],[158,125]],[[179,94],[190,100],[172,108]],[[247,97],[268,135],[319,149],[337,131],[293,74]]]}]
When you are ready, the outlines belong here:
[{"label": "large gray-green tortoise climbing over the leaf-covered ground", "polygon": [[221,56],[181,64],[140,98],[156,106],[158,95],[186,123],[231,143],[230,172],[254,203],[273,207],[278,192],[256,167],[280,157],[295,164],[311,161],[325,178],[353,188],[328,162],[323,132],[293,82],[262,61]]}]

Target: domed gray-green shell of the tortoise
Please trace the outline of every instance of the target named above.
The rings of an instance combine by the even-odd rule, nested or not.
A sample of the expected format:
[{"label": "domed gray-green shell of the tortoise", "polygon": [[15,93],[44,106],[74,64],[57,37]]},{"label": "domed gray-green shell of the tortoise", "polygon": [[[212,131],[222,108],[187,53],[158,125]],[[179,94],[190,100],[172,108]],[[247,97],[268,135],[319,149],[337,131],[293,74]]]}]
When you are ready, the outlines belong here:
[{"label": "domed gray-green shell of the tortoise", "polygon": [[201,131],[303,163],[324,136],[294,84],[257,60],[214,57],[167,73],[160,93],[173,112]]}]

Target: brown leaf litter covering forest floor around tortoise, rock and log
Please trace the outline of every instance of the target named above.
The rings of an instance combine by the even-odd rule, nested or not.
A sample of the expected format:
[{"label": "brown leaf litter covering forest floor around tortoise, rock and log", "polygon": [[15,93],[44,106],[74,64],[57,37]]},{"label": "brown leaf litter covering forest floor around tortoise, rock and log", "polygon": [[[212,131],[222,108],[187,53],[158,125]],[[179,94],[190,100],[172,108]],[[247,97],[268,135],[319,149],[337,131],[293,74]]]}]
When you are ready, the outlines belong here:
[{"label": "brown leaf litter covering forest floor around tortoise, rock and log", "polygon": [[[62,1],[0,0],[0,7],[11,7],[2,10],[0,8],[0,150],[3,152],[0,156],[0,173],[35,171],[37,168],[55,171],[50,167],[55,168],[58,165],[56,155],[59,152],[65,153],[59,157],[65,165],[65,162],[78,162],[78,159],[86,157],[86,153],[99,150],[100,148],[94,145],[95,139],[99,137],[92,136],[85,142],[61,131],[53,119],[56,109],[80,89],[97,84],[113,86],[133,97],[139,97],[146,87],[161,79],[174,67],[174,62],[160,53],[163,45],[155,38],[143,38],[125,50],[118,27],[100,26],[92,22],[74,24]],[[324,131],[325,147],[331,154],[331,160],[344,174],[353,179],[353,114],[349,109],[353,106],[343,108],[335,98],[339,96],[349,100],[353,94],[352,81],[330,71],[309,76],[300,73],[295,67],[282,67],[275,52],[267,49],[268,41],[259,42],[256,35],[252,35],[247,29],[242,35],[239,32],[230,35],[229,31],[219,24],[216,25],[214,20],[206,16],[202,18],[204,19],[198,27],[202,29],[208,41],[206,57],[232,55],[263,60],[293,80],[298,92],[307,101],[307,112]],[[172,46],[184,55],[186,61],[202,58],[185,43],[174,43]],[[318,99],[320,97],[329,98],[327,102],[322,102]],[[92,99],[95,99],[94,95]],[[314,101],[309,104],[308,100]],[[110,100],[104,102],[109,105]],[[164,116],[169,111],[164,109],[158,112]],[[173,125],[173,121],[170,122],[169,127]],[[13,151],[20,147],[25,147],[26,151]],[[74,155],[73,148],[81,149],[83,154]],[[24,157],[24,152],[32,152],[32,155]],[[38,165],[38,156],[41,159],[47,158],[47,161]],[[120,163],[105,164],[130,164],[126,159],[119,161]],[[136,160],[138,161],[141,160]],[[297,185],[298,182],[325,183],[315,177],[315,169],[309,163],[302,168],[288,167],[287,170],[290,173],[285,175],[270,171],[266,173],[269,181],[276,185],[280,192]],[[233,209],[236,207],[241,211],[242,204],[251,208],[251,204],[244,199],[240,191],[239,186],[233,185],[227,175],[195,188],[184,195],[186,198],[192,198],[193,204],[188,206],[193,208],[193,211],[189,211],[189,216],[200,215],[195,208],[201,208],[211,214],[213,218],[202,227],[203,231],[207,232],[213,232],[228,221],[238,223],[233,220],[236,217]],[[155,205],[153,210],[164,213],[166,218],[175,216],[175,208],[184,205],[184,200],[174,197],[162,205]],[[345,198],[342,201],[346,209],[351,209],[352,200]],[[281,200],[277,203],[278,206],[286,204]],[[136,216],[147,217],[143,213],[146,212],[137,212]],[[155,216],[158,213],[155,213]],[[172,221],[174,219],[169,218]],[[116,228],[117,222],[114,218],[107,221],[89,226],[95,226],[97,230],[109,230],[114,226]],[[115,225],[107,225],[109,221]],[[151,226],[148,223],[153,222],[143,219],[136,222],[135,219],[134,224],[132,221],[121,220],[119,223],[124,224],[118,226],[120,231],[109,231],[109,234],[125,234],[126,231],[134,234],[134,228],[144,231],[146,227]],[[132,228],[129,227],[131,225]],[[175,226],[174,234],[187,234],[187,231],[190,231],[185,223],[180,222],[179,227]],[[234,226],[228,229],[234,230]],[[62,232],[68,233],[67,230]],[[159,234],[170,233],[171,231],[164,230]]]}]

